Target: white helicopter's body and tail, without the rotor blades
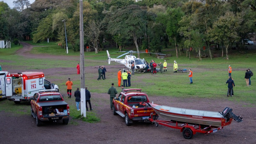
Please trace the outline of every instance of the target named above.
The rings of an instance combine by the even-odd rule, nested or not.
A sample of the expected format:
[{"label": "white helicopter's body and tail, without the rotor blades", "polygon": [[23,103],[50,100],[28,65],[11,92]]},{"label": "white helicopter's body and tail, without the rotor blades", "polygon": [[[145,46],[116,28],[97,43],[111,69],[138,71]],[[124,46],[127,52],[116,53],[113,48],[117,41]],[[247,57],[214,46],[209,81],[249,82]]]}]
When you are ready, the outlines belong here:
[{"label": "white helicopter's body and tail, without the rotor blades", "polygon": [[[107,51],[108,53],[108,51]],[[136,58],[134,55],[126,55],[124,59],[115,59],[110,58],[108,53],[108,64],[110,64],[110,61],[115,61],[120,64],[123,64],[126,68],[131,69],[132,63],[134,62],[134,69],[142,70],[146,68],[146,61],[144,59]]]}]

